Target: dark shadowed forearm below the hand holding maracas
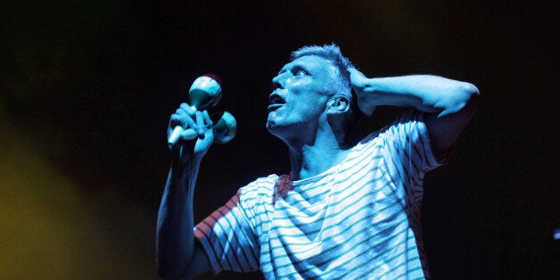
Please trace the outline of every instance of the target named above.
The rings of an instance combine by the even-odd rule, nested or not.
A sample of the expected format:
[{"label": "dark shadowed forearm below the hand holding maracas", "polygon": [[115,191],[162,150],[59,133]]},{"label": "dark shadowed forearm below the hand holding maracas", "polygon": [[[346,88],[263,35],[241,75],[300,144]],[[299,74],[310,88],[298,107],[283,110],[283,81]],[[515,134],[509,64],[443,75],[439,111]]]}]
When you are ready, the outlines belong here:
[{"label": "dark shadowed forearm below the hand holding maracas", "polygon": [[194,252],[194,183],[200,162],[181,166],[175,161],[161,199],[157,226],[160,276],[182,276]]}]

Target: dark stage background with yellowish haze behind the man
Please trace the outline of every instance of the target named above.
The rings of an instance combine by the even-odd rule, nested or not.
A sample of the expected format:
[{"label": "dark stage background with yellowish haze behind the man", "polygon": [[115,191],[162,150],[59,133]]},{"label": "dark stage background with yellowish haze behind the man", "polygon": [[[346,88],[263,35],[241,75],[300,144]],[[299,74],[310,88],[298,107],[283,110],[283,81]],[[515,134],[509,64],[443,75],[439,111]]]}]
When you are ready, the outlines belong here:
[{"label": "dark stage background with yellowish haze behind the man", "polygon": [[[558,278],[555,1],[9,1],[2,4],[0,278],[155,279],[169,115],[222,79],[235,139],[202,163],[200,220],[289,170],[270,79],[335,42],[370,77],[474,83],[482,104],[425,181],[434,279]],[[399,115],[380,108],[363,126]],[[251,274],[246,277],[258,277]],[[232,274],[218,278],[237,277]]]}]

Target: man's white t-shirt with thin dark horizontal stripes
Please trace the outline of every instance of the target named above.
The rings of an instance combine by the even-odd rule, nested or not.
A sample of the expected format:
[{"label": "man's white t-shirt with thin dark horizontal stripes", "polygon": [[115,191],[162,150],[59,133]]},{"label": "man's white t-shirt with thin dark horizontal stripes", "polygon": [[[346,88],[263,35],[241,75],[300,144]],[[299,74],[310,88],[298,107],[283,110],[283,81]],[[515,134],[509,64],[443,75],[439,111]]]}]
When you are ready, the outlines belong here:
[{"label": "man's white t-shirt with thin dark horizontal stripes", "polygon": [[[428,277],[420,238],[432,155],[424,114],[366,136],[338,165],[275,195],[276,175],[239,189],[195,226],[214,273],[268,279]],[[424,266],[423,266],[424,265]]]}]

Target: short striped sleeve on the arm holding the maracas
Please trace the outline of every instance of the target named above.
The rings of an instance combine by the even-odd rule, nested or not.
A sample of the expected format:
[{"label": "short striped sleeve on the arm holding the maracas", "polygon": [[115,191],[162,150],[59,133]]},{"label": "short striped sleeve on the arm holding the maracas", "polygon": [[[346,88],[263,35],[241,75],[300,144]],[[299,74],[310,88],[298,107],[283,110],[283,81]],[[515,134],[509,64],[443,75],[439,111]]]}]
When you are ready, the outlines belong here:
[{"label": "short striped sleeve on the arm holding the maracas", "polygon": [[235,194],[194,227],[194,237],[202,244],[214,274],[222,270],[259,269],[258,239],[240,203],[240,195]]}]

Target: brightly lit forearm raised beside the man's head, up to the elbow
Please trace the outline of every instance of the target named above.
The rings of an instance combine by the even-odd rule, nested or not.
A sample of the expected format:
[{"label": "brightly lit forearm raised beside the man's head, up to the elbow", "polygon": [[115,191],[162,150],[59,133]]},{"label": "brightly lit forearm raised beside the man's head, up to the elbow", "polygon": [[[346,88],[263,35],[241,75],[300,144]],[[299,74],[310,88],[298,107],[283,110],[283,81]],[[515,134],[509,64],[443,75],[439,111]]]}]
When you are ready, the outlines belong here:
[{"label": "brightly lit forearm raised beside the man's head, up to the elbow", "polygon": [[410,106],[439,117],[463,109],[478,89],[472,84],[431,75],[365,78],[358,85],[358,103]]}]

